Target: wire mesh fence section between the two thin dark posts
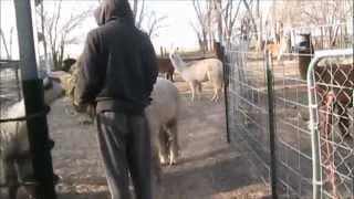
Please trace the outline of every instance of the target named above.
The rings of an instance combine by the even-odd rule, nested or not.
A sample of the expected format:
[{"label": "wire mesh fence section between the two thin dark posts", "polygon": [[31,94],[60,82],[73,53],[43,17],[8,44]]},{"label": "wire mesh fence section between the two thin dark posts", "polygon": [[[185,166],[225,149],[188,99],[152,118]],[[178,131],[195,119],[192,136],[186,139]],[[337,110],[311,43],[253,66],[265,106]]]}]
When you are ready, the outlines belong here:
[{"label": "wire mesh fence section between the two thin dark posts", "polygon": [[267,136],[267,82],[263,54],[248,52],[248,40],[235,40],[226,49],[229,69],[228,118],[231,142],[239,136],[253,154],[253,166],[269,179],[269,137]]}]

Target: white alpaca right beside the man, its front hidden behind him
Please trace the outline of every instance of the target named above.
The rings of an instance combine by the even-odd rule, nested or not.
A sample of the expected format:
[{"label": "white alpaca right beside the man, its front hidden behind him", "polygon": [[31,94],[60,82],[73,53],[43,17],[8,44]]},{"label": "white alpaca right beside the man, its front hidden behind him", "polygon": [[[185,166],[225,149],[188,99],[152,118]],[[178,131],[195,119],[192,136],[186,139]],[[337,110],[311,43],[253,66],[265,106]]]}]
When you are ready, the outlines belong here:
[{"label": "white alpaca right beside the man, its front hidden behind him", "polygon": [[[176,164],[178,156],[177,115],[178,91],[168,80],[157,78],[152,104],[145,109],[153,142],[153,163],[157,172],[160,164]],[[157,174],[159,176],[159,174]]]}]

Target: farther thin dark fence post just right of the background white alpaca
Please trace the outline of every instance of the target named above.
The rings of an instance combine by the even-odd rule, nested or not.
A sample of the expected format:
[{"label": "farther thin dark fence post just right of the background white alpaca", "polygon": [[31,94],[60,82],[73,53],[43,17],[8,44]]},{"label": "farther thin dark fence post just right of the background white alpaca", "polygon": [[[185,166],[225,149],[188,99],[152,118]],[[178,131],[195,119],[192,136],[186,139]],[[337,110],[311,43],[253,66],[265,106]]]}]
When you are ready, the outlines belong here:
[{"label": "farther thin dark fence post just right of the background white alpaca", "polygon": [[222,74],[223,74],[223,98],[225,98],[225,113],[226,113],[226,128],[227,128],[227,142],[231,143],[230,136],[230,126],[229,126],[229,95],[228,95],[228,86],[229,86],[229,70],[227,57],[225,56],[225,48],[220,42],[215,42],[214,48],[217,54],[217,57],[222,62]]}]

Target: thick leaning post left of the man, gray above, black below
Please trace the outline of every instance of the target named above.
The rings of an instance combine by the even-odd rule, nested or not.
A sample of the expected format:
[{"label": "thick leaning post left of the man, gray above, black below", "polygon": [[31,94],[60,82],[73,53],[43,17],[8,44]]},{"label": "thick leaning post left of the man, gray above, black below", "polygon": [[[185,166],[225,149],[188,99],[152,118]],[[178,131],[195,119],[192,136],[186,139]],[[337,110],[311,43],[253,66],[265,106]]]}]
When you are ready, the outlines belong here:
[{"label": "thick leaning post left of the man, gray above, black below", "polygon": [[[38,77],[30,0],[14,0],[20,69],[27,116],[43,113],[44,97],[42,81]],[[52,157],[45,114],[27,121],[32,165],[37,182],[37,199],[55,199]]]}]

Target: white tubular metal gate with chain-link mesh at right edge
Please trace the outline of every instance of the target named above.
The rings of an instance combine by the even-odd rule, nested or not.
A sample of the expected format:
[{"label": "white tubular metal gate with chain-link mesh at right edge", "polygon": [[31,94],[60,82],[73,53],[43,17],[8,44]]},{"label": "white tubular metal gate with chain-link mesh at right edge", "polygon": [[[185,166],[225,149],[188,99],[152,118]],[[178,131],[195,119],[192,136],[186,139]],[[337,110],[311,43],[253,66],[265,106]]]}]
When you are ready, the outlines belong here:
[{"label": "white tubular metal gate with chain-link mesh at right edge", "polygon": [[314,196],[353,198],[353,49],[315,53],[308,88]]}]

